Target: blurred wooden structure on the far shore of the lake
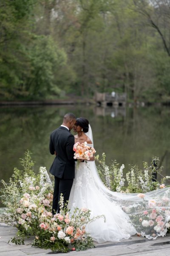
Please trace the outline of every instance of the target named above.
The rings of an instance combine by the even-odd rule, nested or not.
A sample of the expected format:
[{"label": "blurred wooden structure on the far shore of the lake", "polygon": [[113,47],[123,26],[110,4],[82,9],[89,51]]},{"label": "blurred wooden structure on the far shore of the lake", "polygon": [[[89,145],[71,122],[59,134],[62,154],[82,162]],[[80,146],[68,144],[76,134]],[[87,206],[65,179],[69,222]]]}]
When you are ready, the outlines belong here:
[{"label": "blurred wooden structure on the far shore of the lake", "polygon": [[125,106],[126,94],[125,93],[100,93],[96,92],[94,97],[98,106]]}]

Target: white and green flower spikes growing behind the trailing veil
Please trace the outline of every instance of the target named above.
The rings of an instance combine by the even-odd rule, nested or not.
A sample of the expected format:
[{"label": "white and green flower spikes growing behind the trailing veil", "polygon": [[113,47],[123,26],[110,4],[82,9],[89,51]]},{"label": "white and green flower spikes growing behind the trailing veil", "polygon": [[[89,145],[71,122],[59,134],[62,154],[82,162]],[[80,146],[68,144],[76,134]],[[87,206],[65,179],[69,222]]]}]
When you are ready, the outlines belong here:
[{"label": "white and green flower spikes growing behind the trailing veil", "polygon": [[[99,159],[99,155],[95,160],[99,163],[96,165],[102,182],[110,190],[122,193],[146,193],[153,191],[157,188],[165,188],[169,185],[165,185],[170,176],[163,177],[161,175],[162,166],[158,169],[155,168],[153,162],[159,162],[157,157],[153,157],[151,165],[147,162],[143,162],[143,169],[140,169],[138,165],[129,166],[130,171],[125,171],[125,165],[121,165],[114,160],[110,166],[105,163],[105,153],[102,153],[102,158]],[[153,172],[158,173],[162,178],[161,181],[153,181]]]}]

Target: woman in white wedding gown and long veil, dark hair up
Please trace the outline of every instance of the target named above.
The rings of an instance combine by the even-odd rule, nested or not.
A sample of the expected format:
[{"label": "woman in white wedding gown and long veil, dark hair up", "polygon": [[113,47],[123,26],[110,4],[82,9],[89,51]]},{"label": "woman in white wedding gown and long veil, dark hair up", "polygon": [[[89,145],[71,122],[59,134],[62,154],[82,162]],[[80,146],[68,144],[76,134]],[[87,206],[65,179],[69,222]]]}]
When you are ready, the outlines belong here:
[{"label": "woman in white wedding gown and long veil, dark hair up", "polygon": [[[77,132],[77,135],[74,136],[75,143],[83,143],[87,141],[88,146],[94,147],[92,130],[86,118],[77,118],[74,132]],[[76,163],[75,169],[75,179],[71,189],[68,207],[71,211],[74,210],[74,207],[90,209],[91,217],[105,215],[106,222],[104,222],[102,218],[99,218],[87,226],[88,232],[91,233],[91,236],[95,241],[99,243],[105,241],[120,241],[122,239],[128,239],[131,235],[141,231],[140,228],[142,226],[140,226],[139,224],[141,223],[138,224],[138,222],[142,222],[142,218],[140,217],[143,216],[141,207],[143,202],[142,196],[138,197],[137,194],[122,194],[110,191],[106,188],[97,173],[94,157],[87,163],[80,162],[79,165]],[[165,197],[164,194],[167,195],[169,192],[169,188],[163,188],[141,195],[146,196],[148,201],[154,196]],[[136,206],[139,206],[137,210]],[[127,211],[124,211],[123,209],[127,209]],[[134,225],[134,222],[132,224],[130,220],[128,214],[130,209],[133,209],[133,216],[135,216],[137,221],[136,225]],[[147,238],[155,239],[157,236],[163,236],[167,232],[168,226],[165,228],[163,227],[161,218],[164,218],[164,225],[167,225],[170,220],[170,211],[167,211],[166,213],[166,207],[164,208],[164,215],[166,213],[166,218],[165,216],[160,217],[163,215],[160,207],[159,209],[157,207],[155,211],[158,211],[157,215],[153,212],[153,207],[150,207],[150,212],[148,210],[147,215],[148,221],[142,222],[142,225],[144,223],[143,226],[146,233],[142,231],[143,233],[141,232],[141,235],[145,235]],[[150,217],[149,214],[153,214],[153,216]],[[156,217],[159,217],[159,220],[157,220]]]}]

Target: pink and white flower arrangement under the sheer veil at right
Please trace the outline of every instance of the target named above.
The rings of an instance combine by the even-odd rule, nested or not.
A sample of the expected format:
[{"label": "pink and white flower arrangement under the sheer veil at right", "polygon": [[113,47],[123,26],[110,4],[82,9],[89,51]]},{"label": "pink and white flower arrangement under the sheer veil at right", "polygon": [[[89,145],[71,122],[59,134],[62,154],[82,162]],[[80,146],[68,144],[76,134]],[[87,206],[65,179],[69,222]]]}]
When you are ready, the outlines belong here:
[{"label": "pink and white flower arrangement under the sheer veil at right", "polygon": [[137,203],[122,209],[129,215],[137,235],[148,239],[164,236],[170,228],[170,189],[152,198],[143,193],[136,195]]}]

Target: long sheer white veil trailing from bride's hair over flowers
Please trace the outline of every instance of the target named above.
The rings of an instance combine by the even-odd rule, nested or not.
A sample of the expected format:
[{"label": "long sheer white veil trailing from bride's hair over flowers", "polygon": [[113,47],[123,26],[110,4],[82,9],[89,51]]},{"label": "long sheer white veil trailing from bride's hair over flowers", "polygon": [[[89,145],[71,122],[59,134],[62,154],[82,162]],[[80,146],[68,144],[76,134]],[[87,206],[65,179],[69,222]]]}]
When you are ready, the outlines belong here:
[{"label": "long sheer white veil trailing from bride's hair over flowers", "polygon": [[[93,143],[91,126],[86,135]],[[88,162],[95,185],[111,202],[122,208],[139,235],[149,239],[164,236],[170,227],[170,188],[161,188],[145,194],[130,194],[110,191],[103,184],[95,161]]]}]

